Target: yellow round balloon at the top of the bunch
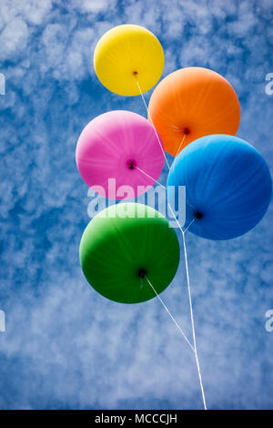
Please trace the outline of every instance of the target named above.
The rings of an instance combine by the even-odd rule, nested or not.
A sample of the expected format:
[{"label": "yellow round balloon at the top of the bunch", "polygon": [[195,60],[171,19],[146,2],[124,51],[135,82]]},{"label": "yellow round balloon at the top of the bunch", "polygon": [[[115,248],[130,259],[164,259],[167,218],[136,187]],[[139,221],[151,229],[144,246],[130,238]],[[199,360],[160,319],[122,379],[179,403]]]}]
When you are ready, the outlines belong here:
[{"label": "yellow round balloon at the top of the bunch", "polygon": [[139,95],[154,87],[164,68],[164,52],[157,37],[143,26],[118,25],[98,41],[94,68],[101,83],[115,94]]}]

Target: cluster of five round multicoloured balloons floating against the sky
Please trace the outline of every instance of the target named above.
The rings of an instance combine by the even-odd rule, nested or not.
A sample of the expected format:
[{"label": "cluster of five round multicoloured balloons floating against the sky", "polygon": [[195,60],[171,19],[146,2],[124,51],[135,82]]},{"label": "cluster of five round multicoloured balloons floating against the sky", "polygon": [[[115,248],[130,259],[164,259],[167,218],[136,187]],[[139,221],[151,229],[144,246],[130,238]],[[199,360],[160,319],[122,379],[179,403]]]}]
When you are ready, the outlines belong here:
[{"label": "cluster of five round multicoloured balloons floating against the sky", "polygon": [[[99,40],[96,76],[110,91],[139,96],[157,84],[164,52],[139,25],[119,25]],[[145,102],[145,98],[143,97]],[[235,137],[238,97],[227,80],[202,67],[179,69],[154,90],[147,119],[110,111],[92,120],[76,146],[76,165],[88,187],[110,199],[132,198],[155,184],[167,161],[167,198],[187,189],[188,230],[206,239],[232,239],[254,228],[268,209],[271,178],[256,148]],[[109,178],[116,179],[110,191]],[[133,215],[132,215],[133,213]],[[147,301],[177,272],[179,245],[167,219],[146,205],[112,205],[92,219],[80,244],[86,280],[106,298]]]}]

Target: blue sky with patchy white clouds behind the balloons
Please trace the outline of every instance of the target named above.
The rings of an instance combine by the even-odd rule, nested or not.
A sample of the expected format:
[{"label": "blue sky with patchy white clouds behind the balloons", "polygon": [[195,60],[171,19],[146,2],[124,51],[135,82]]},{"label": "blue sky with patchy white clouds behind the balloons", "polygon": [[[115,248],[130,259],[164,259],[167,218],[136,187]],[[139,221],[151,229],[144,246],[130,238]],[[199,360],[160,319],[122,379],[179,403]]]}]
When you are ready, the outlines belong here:
[{"label": "blue sky with patchy white clouds behind the balloons", "polygon": [[[106,301],[83,277],[78,245],[89,199],[76,140],[106,111],[146,116],[140,97],[108,92],[92,66],[99,37],[132,23],[162,43],[163,76],[207,66],[230,81],[241,105],[238,137],[272,172],[272,1],[2,0],[0,10],[0,408],[202,408],[195,360],[160,303]],[[265,330],[272,222],[271,204],[241,238],[187,234],[208,408],[273,409],[273,332]],[[182,259],[162,297],[190,336]]]}]

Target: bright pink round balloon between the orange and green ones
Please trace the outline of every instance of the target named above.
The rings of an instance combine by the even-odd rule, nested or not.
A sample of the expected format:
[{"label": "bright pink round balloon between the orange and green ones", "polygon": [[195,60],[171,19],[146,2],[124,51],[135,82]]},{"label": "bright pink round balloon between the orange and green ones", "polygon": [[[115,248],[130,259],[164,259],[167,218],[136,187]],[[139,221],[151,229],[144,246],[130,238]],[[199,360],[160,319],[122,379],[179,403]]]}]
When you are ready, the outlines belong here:
[{"label": "bright pink round balloon between the orange and green ones", "polygon": [[76,166],[96,193],[109,199],[131,199],[155,184],[164,155],[145,117],[116,110],[86,125],[76,145]]}]

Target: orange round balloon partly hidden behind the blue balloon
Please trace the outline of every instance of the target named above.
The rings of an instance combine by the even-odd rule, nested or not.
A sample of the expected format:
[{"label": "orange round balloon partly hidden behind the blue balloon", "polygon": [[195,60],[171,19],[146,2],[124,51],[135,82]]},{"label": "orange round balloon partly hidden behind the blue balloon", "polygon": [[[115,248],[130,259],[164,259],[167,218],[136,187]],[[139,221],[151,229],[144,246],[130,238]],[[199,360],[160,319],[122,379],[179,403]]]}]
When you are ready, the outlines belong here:
[{"label": "orange round balloon partly hidden behind the blue balloon", "polygon": [[215,71],[202,67],[182,68],[161,80],[148,112],[167,153],[173,156],[197,138],[236,135],[240,122],[233,87]]}]

